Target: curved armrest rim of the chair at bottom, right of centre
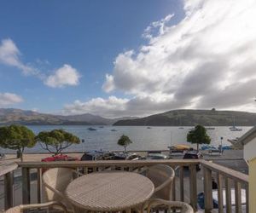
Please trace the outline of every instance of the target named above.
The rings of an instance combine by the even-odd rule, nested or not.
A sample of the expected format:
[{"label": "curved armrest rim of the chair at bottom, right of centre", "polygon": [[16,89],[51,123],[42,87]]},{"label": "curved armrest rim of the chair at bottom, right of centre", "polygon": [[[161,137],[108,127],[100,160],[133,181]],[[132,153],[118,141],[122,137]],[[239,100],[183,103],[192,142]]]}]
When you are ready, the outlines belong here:
[{"label": "curved armrest rim of the chair at bottom, right of centre", "polygon": [[166,205],[168,209],[181,210],[181,213],[194,213],[194,210],[189,204],[179,201],[169,201],[164,199],[151,199],[148,202],[147,213],[150,213],[150,210],[158,205]]}]

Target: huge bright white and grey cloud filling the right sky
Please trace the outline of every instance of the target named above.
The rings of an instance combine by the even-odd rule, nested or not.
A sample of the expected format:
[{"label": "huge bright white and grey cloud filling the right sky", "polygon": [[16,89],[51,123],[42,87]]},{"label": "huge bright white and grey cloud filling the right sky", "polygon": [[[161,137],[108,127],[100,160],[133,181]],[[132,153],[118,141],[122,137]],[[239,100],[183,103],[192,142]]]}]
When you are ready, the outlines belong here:
[{"label": "huge bright white and grey cloud filling the right sky", "polygon": [[256,112],[256,2],[188,0],[183,8],[177,25],[167,15],[146,28],[147,45],[120,53],[102,88],[132,95],[123,107],[131,114],[190,107]]}]

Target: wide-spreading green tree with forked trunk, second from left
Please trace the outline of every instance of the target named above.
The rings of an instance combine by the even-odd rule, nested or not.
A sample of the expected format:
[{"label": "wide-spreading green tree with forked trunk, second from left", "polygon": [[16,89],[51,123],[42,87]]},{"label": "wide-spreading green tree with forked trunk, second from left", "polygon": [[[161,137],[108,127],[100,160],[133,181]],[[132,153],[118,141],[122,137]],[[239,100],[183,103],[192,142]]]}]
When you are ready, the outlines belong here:
[{"label": "wide-spreading green tree with forked trunk, second from left", "polygon": [[44,150],[56,155],[73,144],[79,144],[80,139],[65,130],[51,130],[40,132],[36,136],[36,141]]}]

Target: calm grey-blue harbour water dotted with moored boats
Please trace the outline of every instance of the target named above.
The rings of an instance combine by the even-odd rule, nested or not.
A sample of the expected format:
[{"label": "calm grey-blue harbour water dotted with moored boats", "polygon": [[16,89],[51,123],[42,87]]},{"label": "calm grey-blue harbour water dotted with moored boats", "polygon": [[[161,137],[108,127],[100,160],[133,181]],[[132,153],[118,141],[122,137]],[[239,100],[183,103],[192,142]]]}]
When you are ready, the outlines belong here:
[{"label": "calm grey-blue harbour water dotted with moored boats", "polygon": [[[117,145],[120,135],[125,134],[131,138],[133,143],[128,147],[130,150],[157,150],[167,149],[170,145],[188,144],[186,142],[186,135],[191,127],[184,127],[183,130],[178,127],[151,127],[147,129],[144,126],[92,126],[96,131],[87,130],[89,126],[28,126],[35,134],[43,130],[64,129],[72,132],[74,135],[84,139],[84,143],[73,145],[67,148],[66,151],[79,151],[85,150],[123,150],[122,147]],[[116,131],[111,131],[111,130]],[[208,135],[212,139],[212,145],[217,146],[220,144],[220,137],[224,137],[224,145],[230,145],[228,139],[233,139],[243,135],[251,127],[242,127],[242,131],[230,131],[229,127],[215,127],[215,130],[207,130]],[[2,150],[4,153],[9,153],[9,150]],[[37,144],[33,148],[26,148],[26,153],[44,152],[44,150]],[[13,153],[11,151],[11,153]]]}]

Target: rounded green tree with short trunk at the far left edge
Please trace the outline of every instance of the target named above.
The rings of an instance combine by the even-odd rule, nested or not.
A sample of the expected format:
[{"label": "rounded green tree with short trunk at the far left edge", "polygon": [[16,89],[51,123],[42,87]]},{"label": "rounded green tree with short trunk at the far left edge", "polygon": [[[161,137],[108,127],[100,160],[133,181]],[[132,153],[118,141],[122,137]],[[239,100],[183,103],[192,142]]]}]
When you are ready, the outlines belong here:
[{"label": "rounded green tree with short trunk at the far left edge", "polygon": [[21,125],[0,127],[0,146],[17,150],[17,158],[23,160],[25,147],[34,147],[35,135],[32,130]]}]

